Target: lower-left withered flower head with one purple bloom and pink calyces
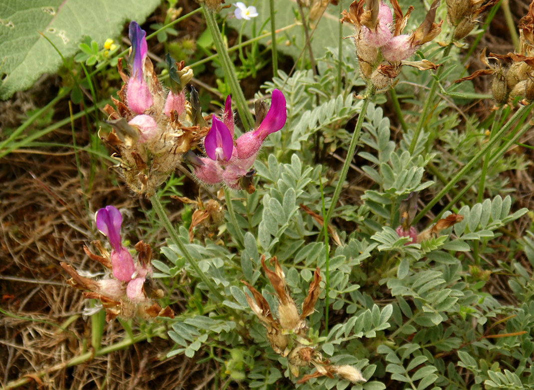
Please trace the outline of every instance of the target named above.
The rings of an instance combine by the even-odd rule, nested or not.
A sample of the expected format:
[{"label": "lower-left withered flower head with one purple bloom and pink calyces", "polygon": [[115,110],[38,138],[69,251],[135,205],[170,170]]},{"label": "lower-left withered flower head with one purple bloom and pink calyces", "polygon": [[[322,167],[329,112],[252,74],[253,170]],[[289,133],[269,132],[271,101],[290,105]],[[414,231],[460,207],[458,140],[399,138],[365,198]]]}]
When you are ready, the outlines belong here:
[{"label": "lower-left withered flower head with one purple bloom and pink calyces", "polygon": [[170,307],[161,308],[154,301],[163,297],[163,291],[153,289],[150,283],[152,275],[152,250],[143,241],[135,245],[137,260],[134,260],[128,248],[122,244],[122,214],[114,206],[106,206],[96,213],[96,225],[105,235],[111,246],[107,250],[100,241],[93,241],[100,255],[92,253],[87,246],[83,249],[91,260],[98,261],[108,269],[109,274],[100,280],[93,280],[80,275],[72,266],[62,262],[66,272],[72,277],[68,283],[75,288],[89,290],[85,298],[98,299],[106,309],[106,321],[119,316],[130,319],[136,316],[153,319],[157,316],[174,318]]}]

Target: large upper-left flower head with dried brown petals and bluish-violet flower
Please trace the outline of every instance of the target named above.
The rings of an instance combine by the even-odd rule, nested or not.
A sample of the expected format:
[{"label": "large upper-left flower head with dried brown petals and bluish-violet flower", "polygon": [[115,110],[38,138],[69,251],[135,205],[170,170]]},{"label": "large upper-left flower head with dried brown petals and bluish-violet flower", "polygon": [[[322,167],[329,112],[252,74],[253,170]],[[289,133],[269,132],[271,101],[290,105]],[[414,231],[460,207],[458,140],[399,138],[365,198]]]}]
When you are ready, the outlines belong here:
[{"label": "large upper-left flower head with dried brown petals and bluish-violet flower", "polygon": [[129,76],[121,59],[119,74],[124,85],[119,99],[112,98],[115,107],[105,107],[113,130],[101,138],[116,149],[117,167],[132,192],[152,196],[209,129],[197,113],[199,108],[185,96],[192,69],[167,55],[171,85],[164,88],[148,58],[146,33],[135,21],[130,23],[129,37]]}]

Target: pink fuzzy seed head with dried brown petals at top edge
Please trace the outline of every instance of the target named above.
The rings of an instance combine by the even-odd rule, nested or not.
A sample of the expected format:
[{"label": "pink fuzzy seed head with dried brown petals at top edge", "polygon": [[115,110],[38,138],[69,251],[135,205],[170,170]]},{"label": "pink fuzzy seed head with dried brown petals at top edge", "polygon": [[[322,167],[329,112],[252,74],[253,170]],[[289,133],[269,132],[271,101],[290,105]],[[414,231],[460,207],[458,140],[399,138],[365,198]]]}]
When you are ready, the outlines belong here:
[{"label": "pink fuzzy seed head with dried brown petals at top edge", "polygon": [[[411,34],[404,34],[413,7],[403,14],[397,0],[391,0],[391,9],[381,0],[355,0],[349,11],[343,11],[341,22],[354,25],[356,53],[360,73],[377,91],[387,90],[394,84],[402,66],[420,70],[436,69],[438,65],[428,61],[408,61],[424,43],[432,41],[443,23],[436,23],[436,10],[440,0],[435,0],[425,20]],[[394,18],[395,16],[395,18]]]}]

